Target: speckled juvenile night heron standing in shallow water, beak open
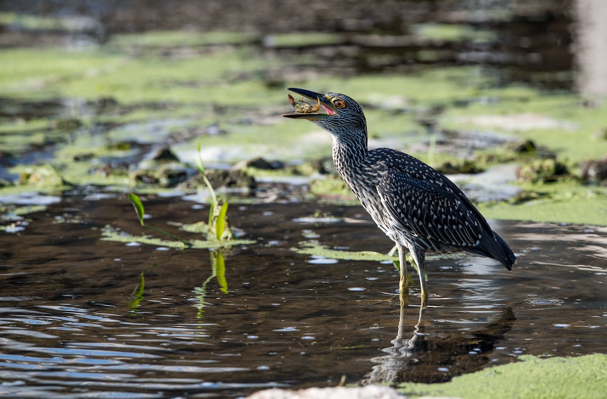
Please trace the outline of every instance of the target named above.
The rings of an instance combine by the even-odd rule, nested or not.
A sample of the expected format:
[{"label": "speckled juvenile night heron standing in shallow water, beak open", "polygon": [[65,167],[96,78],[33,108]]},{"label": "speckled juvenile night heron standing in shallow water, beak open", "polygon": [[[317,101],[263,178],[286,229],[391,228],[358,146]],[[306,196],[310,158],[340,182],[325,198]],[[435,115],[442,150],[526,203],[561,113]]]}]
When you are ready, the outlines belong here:
[{"label": "speckled juvenile night heron standing in shallow water, beak open", "polygon": [[[308,119],[331,133],[337,171],[379,229],[396,243],[401,292],[407,249],[418,266],[424,301],[428,297],[426,253],[467,251],[512,270],[516,258],[506,241],[443,173],[397,150],[368,150],[367,121],[356,101],[339,93],[287,90],[313,100],[316,107],[295,104],[291,98],[296,110],[282,116]],[[325,113],[319,112],[321,107]]]}]

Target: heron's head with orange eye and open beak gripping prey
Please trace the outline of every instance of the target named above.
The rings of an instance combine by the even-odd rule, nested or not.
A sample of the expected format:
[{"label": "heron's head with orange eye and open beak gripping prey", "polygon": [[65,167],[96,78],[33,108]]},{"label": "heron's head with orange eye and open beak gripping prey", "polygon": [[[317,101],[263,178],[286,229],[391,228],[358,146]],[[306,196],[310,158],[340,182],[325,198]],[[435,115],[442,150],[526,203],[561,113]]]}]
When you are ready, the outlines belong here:
[{"label": "heron's head with orange eye and open beak gripping prey", "polygon": [[[309,98],[312,104],[295,102],[290,96],[292,112],[282,116],[293,119],[308,119],[322,129],[327,130],[336,138],[347,137],[353,134],[367,135],[367,122],[358,102],[340,93],[315,93],[310,90],[287,89],[297,96]],[[324,111],[324,112],[321,112]]]}]

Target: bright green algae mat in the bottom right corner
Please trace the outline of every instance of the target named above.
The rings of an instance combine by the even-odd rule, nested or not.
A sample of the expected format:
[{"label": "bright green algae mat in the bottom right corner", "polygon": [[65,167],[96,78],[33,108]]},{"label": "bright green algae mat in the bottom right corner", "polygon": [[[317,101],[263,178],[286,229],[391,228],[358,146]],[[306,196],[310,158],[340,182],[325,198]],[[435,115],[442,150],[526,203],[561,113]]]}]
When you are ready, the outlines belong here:
[{"label": "bright green algae mat in the bottom right corner", "polygon": [[578,399],[607,395],[607,355],[552,358],[523,355],[518,360],[522,361],[459,375],[447,383],[405,383],[398,390],[411,396],[462,399]]}]

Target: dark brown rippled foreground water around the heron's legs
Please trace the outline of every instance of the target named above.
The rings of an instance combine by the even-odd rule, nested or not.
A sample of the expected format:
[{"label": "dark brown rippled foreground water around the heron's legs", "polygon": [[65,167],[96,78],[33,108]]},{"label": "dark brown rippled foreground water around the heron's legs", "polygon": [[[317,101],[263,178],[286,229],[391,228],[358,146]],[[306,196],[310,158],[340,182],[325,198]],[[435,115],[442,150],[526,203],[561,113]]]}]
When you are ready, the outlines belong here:
[{"label": "dark brown rippled foreground water around the heron's legs", "polygon": [[[192,206],[150,198],[149,223],[176,232],[166,221],[206,217]],[[314,212],[340,219],[293,221]],[[473,256],[430,260],[432,297],[418,323],[416,285],[401,312],[392,264],[291,250],[317,240],[387,252],[360,207],[232,204],[230,215],[257,242],[226,253],[228,293],[212,279],[206,296],[208,250],[100,241],[106,224],[143,231],[126,198],[67,195],[21,232],[2,233],[0,395],[237,397],[344,375],[446,381],[520,354],[607,352],[604,227],[493,222],[520,253],[515,269]]]}]

